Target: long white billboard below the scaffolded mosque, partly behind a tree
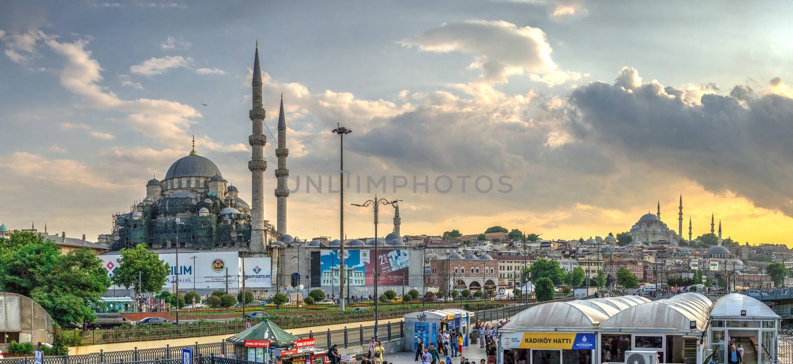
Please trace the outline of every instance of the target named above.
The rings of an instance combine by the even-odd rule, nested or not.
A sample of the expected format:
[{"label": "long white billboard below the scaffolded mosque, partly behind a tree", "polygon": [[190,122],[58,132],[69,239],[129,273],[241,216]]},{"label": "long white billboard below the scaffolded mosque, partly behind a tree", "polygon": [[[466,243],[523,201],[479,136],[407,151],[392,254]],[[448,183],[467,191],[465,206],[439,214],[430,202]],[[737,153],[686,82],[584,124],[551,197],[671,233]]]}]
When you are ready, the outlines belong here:
[{"label": "long white billboard below the scaffolded mosque, partly behind a tree", "polygon": [[[118,268],[119,254],[99,255],[109,276]],[[194,258],[194,259],[193,259]],[[179,255],[176,265],[175,253],[163,253],[159,259],[170,265],[170,275],[163,288],[170,289],[179,274],[180,288],[229,289],[239,285],[241,259],[236,251],[193,251]],[[245,286],[249,288],[270,288],[270,258],[245,258]],[[111,287],[123,289],[124,287]]]}]

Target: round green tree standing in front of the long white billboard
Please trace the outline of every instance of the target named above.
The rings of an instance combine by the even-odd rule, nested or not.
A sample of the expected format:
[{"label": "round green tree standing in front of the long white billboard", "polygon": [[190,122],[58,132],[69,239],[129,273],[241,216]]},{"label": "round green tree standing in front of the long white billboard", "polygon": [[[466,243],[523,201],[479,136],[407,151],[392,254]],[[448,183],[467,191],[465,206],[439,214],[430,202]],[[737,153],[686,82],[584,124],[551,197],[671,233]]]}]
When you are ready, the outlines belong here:
[{"label": "round green tree standing in front of the long white billboard", "polygon": [[159,259],[159,254],[146,249],[146,244],[125,247],[120,253],[121,257],[116,259],[118,264],[114,270],[113,284],[123,285],[126,289],[135,287],[136,296],[163,289],[170,274],[170,266]]}]

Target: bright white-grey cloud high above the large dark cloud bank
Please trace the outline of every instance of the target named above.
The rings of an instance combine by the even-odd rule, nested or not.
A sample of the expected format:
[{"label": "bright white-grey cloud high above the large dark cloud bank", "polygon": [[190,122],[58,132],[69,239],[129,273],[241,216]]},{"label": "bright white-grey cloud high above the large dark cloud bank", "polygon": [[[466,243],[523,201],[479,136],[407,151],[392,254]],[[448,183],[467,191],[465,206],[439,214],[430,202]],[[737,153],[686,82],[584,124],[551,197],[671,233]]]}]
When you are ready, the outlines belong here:
[{"label": "bright white-grey cloud high above the large dark cloud bank", "polygon": [[534,81],[554,86],[582,77],[559,69],[542,29],[519,27],[507,21],[444,24],[400,43],[429,52],[473,54],[476,58],[469,67],[481,69],[485,82],[507,82],[508,76],[526,74]]}]

